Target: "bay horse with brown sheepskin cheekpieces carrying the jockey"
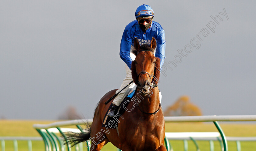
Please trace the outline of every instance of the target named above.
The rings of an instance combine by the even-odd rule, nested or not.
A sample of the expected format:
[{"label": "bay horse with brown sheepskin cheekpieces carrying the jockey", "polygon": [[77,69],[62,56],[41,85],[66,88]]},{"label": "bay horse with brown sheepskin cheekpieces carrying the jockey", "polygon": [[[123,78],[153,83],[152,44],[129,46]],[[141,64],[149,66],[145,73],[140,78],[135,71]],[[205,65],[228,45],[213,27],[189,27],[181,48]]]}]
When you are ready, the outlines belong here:
[{"label": "bay horse with brown sheepskin cheekpieces carrying the jockey", "polygon": [[137,89],[126,107],[127,112],[118,119],[118,128],[102,127],[104,116],[111,105],[111,103],[105,105],[105,102],[115,95],[117,90],[115,89],[101,98],[95,109],[93,122],[88,129],[83,133],[66,135],[72,146],[91,139],[91,151],[101,150],[108,142],[123,151],[167,151],[163,145],[165,121],[157,86],[160,76],[160,59],[154,56],[155,47],[154,37],[150,45],[140,45],[137,38],[134,40],[133,53],[136,58],[132,62],[131,70]]}]

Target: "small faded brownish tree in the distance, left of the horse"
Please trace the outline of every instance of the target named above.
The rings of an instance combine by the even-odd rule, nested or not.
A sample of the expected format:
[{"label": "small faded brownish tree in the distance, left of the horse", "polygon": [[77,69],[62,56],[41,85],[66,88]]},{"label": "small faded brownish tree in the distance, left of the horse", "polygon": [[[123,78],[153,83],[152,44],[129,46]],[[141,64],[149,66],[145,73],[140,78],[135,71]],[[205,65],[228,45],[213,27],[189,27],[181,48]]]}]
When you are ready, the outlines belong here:
[{"label": "small faded brownish tree in the distance, left of the horse", "polygon": [[81,119],[80,116],[76,112],[76,108],[73,106],[68,106],[67,109],[65,110],[64,113],[62,113],[59,116],[59,119],[66,119],[66,120],[71,120],[71,119]]}]

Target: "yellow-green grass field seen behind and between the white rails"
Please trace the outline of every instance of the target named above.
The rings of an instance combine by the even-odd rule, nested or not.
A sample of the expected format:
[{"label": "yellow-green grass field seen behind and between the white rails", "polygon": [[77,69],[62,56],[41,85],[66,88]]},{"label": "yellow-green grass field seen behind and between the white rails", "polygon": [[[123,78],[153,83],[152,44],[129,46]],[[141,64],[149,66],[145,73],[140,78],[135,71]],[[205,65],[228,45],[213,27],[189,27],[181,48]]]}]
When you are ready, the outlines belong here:
[{"label": "yellow-green grass field seen behind and between the white rails", "polygon": [[[0,120],[0,136],[40,136],[33,128],[33,124],[48,124],[56,121],[35,121],[35,120]],[[256,124],[232,124],[220,123],[226,136],[256,136]],[[212,122],[200,123],[166,123],[166,132],[217,132]],[[170,141],[174,151],[183,150],[183,141]],[[201,151],[208,151],[208,141],[197,141]],[[220,151],[219,142],[214,141],[215,150]],[[44,151],[43,141],[32,141],[33,151]],[[196,148],[192,141],[188,141],[189,151],[195,151]],[[236,150],[235,142],[228,142],[229,151]],[[27,149],[26,141],[18,141],[19,151]],[[256,142],[241,142],[243,151],[256,150]],[[13,150],[13,142],[5,141],[5,150]],[[102,151],[116,151],[116,147],[108,143],[101,149]]]}]

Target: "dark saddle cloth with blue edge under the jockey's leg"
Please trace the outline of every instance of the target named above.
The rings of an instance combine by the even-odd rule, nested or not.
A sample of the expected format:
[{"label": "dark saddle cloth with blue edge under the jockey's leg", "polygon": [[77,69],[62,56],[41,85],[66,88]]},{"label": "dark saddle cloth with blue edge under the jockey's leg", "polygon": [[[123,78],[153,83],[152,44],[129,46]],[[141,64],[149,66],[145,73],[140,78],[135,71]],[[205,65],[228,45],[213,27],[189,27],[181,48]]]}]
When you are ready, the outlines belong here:
[{"label": "dark saddle cloth with blue edge under the jockey's leg", "polygon": [[135,94],[135,90],[133,90],[133,92],[131,92],[129,95],[127,95],[123,101],[121,102],[121,104],[119,105],[119,108],[118,108],[118,111],[116,113],[116,116],[115,117],[109,117],[107,116],[110,108],[111,108],[111,105],[109,106],[108,108],[108,111],[106,112],[105,116],[104,116],[104,120],[103,120],[103,123],[102,123],[102,127],[108,127],[108,128],[111,128],[111,129],[114,129],[116,128],[116,126],[118,125],[118,122],[120,122],[118,119],[121,117],[120,115],[122,115],[124,112],[125,112],[125,109],[124,107],[126,107],[127,109],[127,106],[128,104],[131,102],[131,99],[133,97],[133,95]]}]

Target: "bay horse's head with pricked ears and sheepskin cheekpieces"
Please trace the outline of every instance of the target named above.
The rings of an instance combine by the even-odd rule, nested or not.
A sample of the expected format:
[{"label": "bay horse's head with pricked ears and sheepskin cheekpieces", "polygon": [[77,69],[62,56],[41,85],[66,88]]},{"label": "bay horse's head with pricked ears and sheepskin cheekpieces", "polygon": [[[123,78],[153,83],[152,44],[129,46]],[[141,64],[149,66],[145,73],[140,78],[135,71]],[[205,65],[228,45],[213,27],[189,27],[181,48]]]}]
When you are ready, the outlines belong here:
[{"label": "bay horse's head with pricked ears and sheepskin cheekpieces", "polygon": [[132,62],[133,82],[144,94],[149,89],[156,87],[160,76],[160,58],[155,57],[156,40],[153,37],[150,45],[140,45],[137,38],[134,39],[133,54],[136,55]]}]

